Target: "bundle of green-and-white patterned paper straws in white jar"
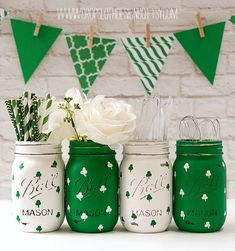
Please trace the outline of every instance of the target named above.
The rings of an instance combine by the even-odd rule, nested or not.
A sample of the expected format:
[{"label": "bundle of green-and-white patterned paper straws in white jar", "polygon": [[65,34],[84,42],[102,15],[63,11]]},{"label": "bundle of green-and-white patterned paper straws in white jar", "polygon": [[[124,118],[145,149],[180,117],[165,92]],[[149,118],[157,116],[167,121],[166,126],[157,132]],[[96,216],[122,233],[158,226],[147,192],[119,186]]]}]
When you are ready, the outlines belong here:
[{"label": "bundle of green-and-white patterned paper straws in white jar", "polygon": [[18,141],[46,141],[49,134],[43,133],[47,127],[53,106],[50,94],[39,99],[32,93],[24,92],[19,99],[5,101],[9,117]]}]

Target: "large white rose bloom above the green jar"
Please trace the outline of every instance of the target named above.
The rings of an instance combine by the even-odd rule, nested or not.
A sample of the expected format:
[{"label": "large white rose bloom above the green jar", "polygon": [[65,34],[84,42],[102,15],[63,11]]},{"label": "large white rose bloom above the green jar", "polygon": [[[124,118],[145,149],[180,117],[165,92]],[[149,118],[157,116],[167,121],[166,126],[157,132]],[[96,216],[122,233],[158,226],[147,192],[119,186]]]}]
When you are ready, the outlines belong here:
[{"label": "large white rose bloom above the green jar", "polygon": [[98,95],[84,102],[75,114],[75,125],[80,135],[115,148],[131,139],[136,116],[132,106],[124,101]]}]

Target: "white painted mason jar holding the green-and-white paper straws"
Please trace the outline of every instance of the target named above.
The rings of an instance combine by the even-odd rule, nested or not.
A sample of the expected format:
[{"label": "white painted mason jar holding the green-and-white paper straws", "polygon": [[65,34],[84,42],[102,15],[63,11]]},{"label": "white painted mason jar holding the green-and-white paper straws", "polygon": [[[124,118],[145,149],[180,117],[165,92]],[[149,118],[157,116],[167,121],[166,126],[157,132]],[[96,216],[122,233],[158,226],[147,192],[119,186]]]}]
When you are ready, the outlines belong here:
[{"label": "white painted mason jar holding the green-and-white paper straws", "polygon": [[13,215],[20,230],[49,232],[64,220],[61,146],[17,142],[12,166]]}]

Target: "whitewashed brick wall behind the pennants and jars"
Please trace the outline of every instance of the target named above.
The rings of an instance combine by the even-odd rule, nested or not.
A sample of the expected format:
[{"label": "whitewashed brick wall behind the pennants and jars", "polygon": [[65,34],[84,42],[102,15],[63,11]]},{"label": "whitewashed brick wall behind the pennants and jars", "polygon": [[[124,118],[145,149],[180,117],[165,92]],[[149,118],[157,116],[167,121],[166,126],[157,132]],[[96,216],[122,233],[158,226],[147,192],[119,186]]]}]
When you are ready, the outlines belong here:
[{"label": "whitewashed brick wall behind the pennants and jars", "polygon": [[[155,20],[152,35],[180,31],[195,25],[194,15],[200,10],[203,23],[228,20],[235,13],[234,0],[0,0],[0,7],[11,11],[12,17],[35,20],[39,10],[44,12],[44,23],[62,27],[64,33],[87,32],[89,21],[59,21],[57,7],[177,7],[178,20]],[[95,21],[96,34],[106,37],[142,36],[145,22]],[[178,123],[182,116],[218,117],[222,126],[225,161],[228,167],[229,197],[235,198],[235,26],[226,23],[218,74],[214,86],[201,75],[182,47],[176,41],[157,83],[159,95],[174,97],[169,139],[174,153],[178,137]],[[0,26],[0,199],[10,198],[10,170],[14,158],[14,133],[3,99],[19,96],[23,90],[38,95],[52,92],[63,96],[72,87],[79,86],[67,49],[61,35],[45,57],[34,76],[25,86],[19,67],[9,19]],[[104,66],[92,90],[94,94],[121,97],[131,103],[138,102],[144,89],[128,61],[120,42]],[[172,156],[174,156],[172,154]]]}]

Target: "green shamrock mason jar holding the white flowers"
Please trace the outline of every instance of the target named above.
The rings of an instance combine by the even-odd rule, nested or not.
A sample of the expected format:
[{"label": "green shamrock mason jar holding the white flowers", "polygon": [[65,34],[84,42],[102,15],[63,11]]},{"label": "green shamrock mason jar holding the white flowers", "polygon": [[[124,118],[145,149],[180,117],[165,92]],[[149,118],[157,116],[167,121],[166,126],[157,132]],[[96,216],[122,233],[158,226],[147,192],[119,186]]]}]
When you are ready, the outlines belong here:
[{"label": "green shamrock mason jar holding the white flowers", "polygon": [[66,218],[72,230],[111,231],[118,219],[115,151],[92,141],[70,142],[66,166]]}]

